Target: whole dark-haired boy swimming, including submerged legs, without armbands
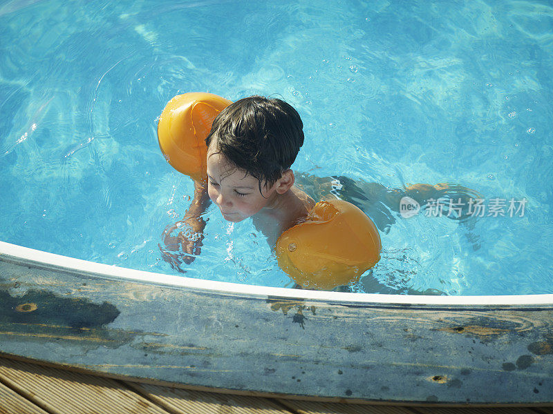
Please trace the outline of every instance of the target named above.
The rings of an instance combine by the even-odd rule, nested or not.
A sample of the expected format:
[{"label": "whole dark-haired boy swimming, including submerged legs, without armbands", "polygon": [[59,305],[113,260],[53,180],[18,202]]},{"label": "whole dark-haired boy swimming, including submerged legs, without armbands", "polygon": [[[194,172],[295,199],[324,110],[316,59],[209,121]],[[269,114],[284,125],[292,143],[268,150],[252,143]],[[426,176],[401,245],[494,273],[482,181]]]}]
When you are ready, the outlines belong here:
[{"label": "whole dark-haired boy swimming, including submerged legs, without armbands", "polygon": [[[303,123],[299,114],[281,99],[247,97],[229,105],[216,117],[207,139],[207,188],[194,182],[194,199],[185,217],[162,233],[164,259],[176,270],[194,261],[203,245],[203,213],[211,203],[227,221],[252,217],[271,246],[284,230],[300,223],[315,200],[294,186],[290,169],[303,145]],[[386,233],[395,221],[385,206],[397,211],[400,199],[409,195],[421,206],[444,195],[466,195],[447,184],[415,184],[406,190],[389,190],[377,183],[361,189],[346,177],[318,178],[302,175],[302,181],[321,198],[342,198],[361,208]],[[453,189],[453,191],[452,191]],[[189,231],[174,235],[174,230]],[[192,230],[192,231],[190,231]]]}]

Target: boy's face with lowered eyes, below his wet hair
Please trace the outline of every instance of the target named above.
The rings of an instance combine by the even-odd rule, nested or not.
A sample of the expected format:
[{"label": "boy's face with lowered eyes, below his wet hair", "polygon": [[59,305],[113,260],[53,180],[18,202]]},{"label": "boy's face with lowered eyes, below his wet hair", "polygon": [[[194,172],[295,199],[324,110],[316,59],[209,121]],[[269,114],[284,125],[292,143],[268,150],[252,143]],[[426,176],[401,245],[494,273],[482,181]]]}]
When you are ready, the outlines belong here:
[{"label": "boy's face with lowered eyes, below his wet hair", "polygon": [[221,210],[225,220],[235,223],[258,213],[276,196],[274,185],[270,188],[262,185],[259,193],[256,178],[234,168],[223,155],[211,148],[207,151],[207,180],[209,198]]}]

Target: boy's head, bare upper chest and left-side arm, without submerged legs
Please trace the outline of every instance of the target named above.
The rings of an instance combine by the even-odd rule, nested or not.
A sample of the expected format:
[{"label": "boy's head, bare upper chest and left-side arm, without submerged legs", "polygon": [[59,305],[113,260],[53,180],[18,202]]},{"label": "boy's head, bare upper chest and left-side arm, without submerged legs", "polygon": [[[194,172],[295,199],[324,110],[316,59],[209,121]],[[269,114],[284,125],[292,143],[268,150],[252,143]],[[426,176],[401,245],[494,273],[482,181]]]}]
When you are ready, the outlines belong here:
[{"label": "boy's head, bare upper chest and left-side arm, without submerged legs", "polygon": [[[299,114],[281,99],[248,97],[232,103],[213,122],[207,139],[207,189],[194,182],[194,199],[185,217],[163,233],[169,250],[200,253],[205,221],[201,215],[211,201],[227,221],[252,217],[272,246],[281,233],[305,218],[315,201],[294,186],[294,163],[303,145]],[[195,234],[173,231],[186,224]],[[165,260],[177,270],[179,257],[165,252]]]}]

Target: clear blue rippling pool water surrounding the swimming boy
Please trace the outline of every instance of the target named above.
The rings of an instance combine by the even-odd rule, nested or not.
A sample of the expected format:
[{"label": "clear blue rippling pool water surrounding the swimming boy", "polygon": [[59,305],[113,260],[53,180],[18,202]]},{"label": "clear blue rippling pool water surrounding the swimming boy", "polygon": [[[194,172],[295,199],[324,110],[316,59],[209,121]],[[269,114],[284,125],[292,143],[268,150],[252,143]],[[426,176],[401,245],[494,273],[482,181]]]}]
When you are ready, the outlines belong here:
[{"label": "clear blue rippling pool water surrounding the swimming boy", "polygon": [[[411,218],[355,291],[552,293],[550,1],[10,1],[0,6],[0,239],[158,273],[189,178],[157,117],[178,93],[283,97],[293,168],[525,199],[523,217]],[[186,276],[292,286],[251,221],[209,208]],[[387,232],[387,233],[386,233]]]}]

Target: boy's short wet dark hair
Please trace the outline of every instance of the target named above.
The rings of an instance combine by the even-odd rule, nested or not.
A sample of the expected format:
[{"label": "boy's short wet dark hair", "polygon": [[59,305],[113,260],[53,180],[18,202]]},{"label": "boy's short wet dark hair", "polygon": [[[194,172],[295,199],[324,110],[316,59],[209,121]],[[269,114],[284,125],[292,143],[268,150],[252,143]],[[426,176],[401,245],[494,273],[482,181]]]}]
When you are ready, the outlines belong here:
[{"label": "boy's short wet dark hair", "polygon": [[[272,186],[303,145],[298,112],[281,99],[253,96],[227,106],[213,121],[205,144],[261,183]],[[231,174],[232,171],[229,172]]]}]

